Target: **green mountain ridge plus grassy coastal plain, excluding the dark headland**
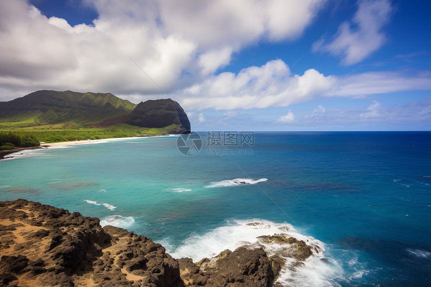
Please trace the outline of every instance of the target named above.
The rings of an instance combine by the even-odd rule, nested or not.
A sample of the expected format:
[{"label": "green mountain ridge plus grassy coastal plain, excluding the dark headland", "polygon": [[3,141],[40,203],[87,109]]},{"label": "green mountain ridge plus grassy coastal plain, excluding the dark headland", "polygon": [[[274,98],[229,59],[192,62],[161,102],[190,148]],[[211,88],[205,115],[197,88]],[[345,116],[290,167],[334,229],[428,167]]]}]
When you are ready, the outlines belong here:
[{"label": "green mountain ridge plus grassy coastal plain, excluding the dark headland", "polygon": [[15,131],[21,135],[35,136],[40,142],[54,143],[164,135],[177,127],[175,124],[163,128],[144,128],[125,123],[97,125],[112,117],[128,114],[135,107],[135,104],[110,93],[37,91],[10,102],[0,102],[0,132]]}]

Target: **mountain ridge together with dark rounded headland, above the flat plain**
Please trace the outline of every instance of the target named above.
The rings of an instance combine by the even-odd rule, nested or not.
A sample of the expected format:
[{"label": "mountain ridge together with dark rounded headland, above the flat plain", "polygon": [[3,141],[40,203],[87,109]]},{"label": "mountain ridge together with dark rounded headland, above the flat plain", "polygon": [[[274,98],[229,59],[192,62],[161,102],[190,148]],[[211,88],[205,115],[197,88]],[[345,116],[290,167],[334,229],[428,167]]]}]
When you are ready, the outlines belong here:
[{"label": "mountain ridge together with dark rounded headland, above the flat plain", "polygon": [[123,123],[145,128],[167,127],[169,133],[190,130],[184,110],[171,99],[136,105],[110,93],[43,90],[0,102],[0,128],[110,127]]}]

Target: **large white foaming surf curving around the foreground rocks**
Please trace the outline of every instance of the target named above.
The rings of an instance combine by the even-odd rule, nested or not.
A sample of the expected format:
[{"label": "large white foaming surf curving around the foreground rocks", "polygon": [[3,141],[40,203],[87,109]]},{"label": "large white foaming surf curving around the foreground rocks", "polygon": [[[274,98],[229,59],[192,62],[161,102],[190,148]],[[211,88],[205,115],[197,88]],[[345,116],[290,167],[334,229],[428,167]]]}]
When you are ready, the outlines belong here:
[{"label": "large white foaming surf curving around the foreground rocks", "polygon": [[[168,250],[174,258],[191,257],[198,261],[204,257],[213,257],[225,249],[235,250],[242,245],[263,246],[269,256],[281,255],[281,244],[265,244],[258,236],[284,233],[286,236],[304,240],[312,246],[313,255],[306,259],[302,267],[288,266],[293,258],[285,257],[278,282],[283,286],[331,286],[336,285],[333,278],[342,273],[342,268],[333,259],[323,254],[325,244],[311,236],[300,234],[287,223],[275,223],[262,219],[238,220],[234,224],[221,226],[203,235],[192,234],[183,245],[175,250]],[[169,241],[166,239],[165,241]],[[169,244],[166,244],[169,246]],[[282,256],[282,255],[281,255]]]}]

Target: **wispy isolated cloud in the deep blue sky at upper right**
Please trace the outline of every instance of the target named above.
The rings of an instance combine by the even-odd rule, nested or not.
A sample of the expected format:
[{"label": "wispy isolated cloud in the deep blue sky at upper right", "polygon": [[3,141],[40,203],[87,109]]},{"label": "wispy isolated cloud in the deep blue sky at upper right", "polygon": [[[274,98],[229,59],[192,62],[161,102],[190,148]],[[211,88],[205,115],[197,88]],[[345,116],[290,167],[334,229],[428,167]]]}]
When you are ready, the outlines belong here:
[{"label": "wispy isolated cloud in the deep blue sky at upper right", "polygon": [[382,28],[389,22],[392,10],[389,0],[360,0],[352,19],[356,29],[344,22],[332,42],[325,44],[322,38],[313,44],[312,50],[341,56],[343,65],[359,63],[386,42]]}]

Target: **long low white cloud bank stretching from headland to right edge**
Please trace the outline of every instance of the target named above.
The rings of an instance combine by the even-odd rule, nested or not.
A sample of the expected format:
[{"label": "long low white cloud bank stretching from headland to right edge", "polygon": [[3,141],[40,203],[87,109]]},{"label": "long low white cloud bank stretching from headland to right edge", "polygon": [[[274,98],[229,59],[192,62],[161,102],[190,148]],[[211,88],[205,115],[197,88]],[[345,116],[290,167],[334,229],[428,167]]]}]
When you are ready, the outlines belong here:
[{"label": "long low white cloud bank stretching from headland to right edge", "polygon": [[[431,73],[368,72],[344,77],[325,76],[309,69],[292,75],[282,60],[261,67],[249,67],[238,74],[225,72],[208,77],[201,84],[178,91],[175,98],[187,110],[212,108],[235,110],[286,107],[328,97],[361,98],[392,92],[429,90]],[[316,110],[317,112],[324,112]],[[316,114],[317,115],[317,114]]]}]

